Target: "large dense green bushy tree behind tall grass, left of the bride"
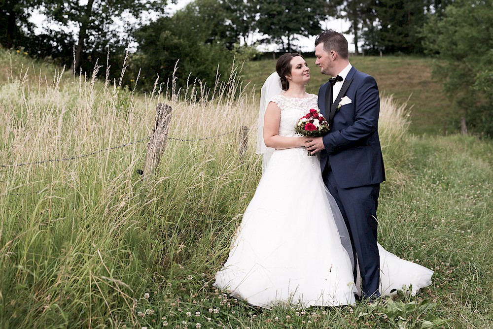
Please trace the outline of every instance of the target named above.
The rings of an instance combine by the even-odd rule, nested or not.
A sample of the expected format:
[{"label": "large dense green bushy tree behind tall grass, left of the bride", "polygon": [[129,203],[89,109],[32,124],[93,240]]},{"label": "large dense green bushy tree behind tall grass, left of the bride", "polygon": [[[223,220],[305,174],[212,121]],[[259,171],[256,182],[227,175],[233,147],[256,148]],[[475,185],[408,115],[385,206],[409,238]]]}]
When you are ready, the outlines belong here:
[{"label": "large dense green bushy tree behind tall grass, left of the bride", "polygon": [[180,87],[196,79],[213,86],[218,64],[227,79],[233,55],[223,9],[217,0],[195,0],[172,17],[161,17],[136,31],[139,47],[131,69],[135,74],[141,70],[141,86],[152,89],[158,75],[160,82],[174,76]]}]

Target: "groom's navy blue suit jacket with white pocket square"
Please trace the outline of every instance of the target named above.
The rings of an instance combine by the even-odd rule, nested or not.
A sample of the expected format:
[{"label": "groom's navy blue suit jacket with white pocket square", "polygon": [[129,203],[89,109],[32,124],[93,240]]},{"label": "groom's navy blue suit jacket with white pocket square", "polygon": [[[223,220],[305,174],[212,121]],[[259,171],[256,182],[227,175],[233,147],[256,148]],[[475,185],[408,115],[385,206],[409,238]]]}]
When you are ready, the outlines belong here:
[{"label": "groom's navy blue suit jacket with white pocket square", "polygon": [[[337,109],[341,98],[352,103]],[[380,97],[375,79],[354,68],[331,104],[330,83],[318,91],[318,108],[328,118],[330,132],[322,137],[320,153],[323,172],[327,158],[337,184],[342,188],[378,184],[385,180],[384,160],[378,137]]]}]

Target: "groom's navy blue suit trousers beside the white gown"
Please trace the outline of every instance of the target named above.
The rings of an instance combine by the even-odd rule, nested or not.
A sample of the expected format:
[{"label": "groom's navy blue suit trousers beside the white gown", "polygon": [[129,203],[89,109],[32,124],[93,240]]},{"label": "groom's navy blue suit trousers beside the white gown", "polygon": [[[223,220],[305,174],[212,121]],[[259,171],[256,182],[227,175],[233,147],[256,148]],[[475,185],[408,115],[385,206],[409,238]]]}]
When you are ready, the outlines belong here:
[{"label": "groom's navy blue suit trousers beside the white gown", "polygon": [[[377,247],[377,206],[380,184],[341,188],[337,185],[330,166],[325,167],[322,178],[335,198],[351,235],[353,255],[361,275],[363,298],[380,296],[380,258]],[[354,262],[356,263],[356,262]],[[356,267],[353,269],[356,282]]]}]

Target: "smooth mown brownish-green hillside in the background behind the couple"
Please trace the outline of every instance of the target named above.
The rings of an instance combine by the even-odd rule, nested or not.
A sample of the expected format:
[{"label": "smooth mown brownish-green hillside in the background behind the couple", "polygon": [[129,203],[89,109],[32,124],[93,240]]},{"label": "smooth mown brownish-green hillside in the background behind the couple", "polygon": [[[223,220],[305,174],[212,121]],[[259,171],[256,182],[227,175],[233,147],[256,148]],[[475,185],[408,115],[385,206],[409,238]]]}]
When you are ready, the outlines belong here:
[{"label": "smooth mown brownish-green hillside in the background behind the couple", "polygon": [[[320,73],[315,65],[315,58],[306,58],[306,61],[312,73],[307,91],[317,94],[328,77]],[[458,132],[458,118],[454,115],[451,102],[443,94],[441,85],[431,77],[429,58],[366,56],[351,57],[350,61],[358,70],[377,80],[381,93],[393,95],[399,102],[407,102],[412,106],[411,132],[431,135]],[[248,62],[243,69],[243,76],[255,86],[258,94],[265,78],[275,67],[275,60]]]}]

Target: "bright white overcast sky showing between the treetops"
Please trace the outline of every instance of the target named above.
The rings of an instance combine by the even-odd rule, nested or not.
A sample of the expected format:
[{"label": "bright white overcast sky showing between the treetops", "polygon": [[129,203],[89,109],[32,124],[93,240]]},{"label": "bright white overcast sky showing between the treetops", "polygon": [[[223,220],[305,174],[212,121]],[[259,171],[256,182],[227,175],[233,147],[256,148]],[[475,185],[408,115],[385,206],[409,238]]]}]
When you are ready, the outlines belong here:
[{"label": "bright white overcast sky showing between the treetops", "polygon": [[[183,8],[187,3],[191,2],[192,0],[177,0],[176,4],[170,4],[168,5],[168,8],[170,9],[170,13],[174,13],[176,10]],[[86,2],[87,0],[81,0],[80,2]],[[35,33],[42,33],[43,31],[46,31],[48,29],[54,29],[54,26],[50,26],[46,21],[44,15],[39,15],[37,11],[32,13],[32,16],[30,18],[30,21],[33,22],[36,25],[36,30]],[[333,29],[337,32],[343,32],[347,31],[349,29],[349,22],[343,21],[341,19],[328,19],[325,22],[322,22],[322,29]],[[77,26],[71,26],[69,27],[70,31],[77,31]],[[123,27],[121,29],[123,33]],[[353,42],[353,36],[352,34],[344,34],[346,38],[348,39],[349,42],[349,51],[354,52],[354,42]],[[315,38],[316,36],[307,38],[307,37],[300,37],[298,41],[293,42],[294,45],[299,46],[302,51],[313,51],[315,49]],[[277,49],[276,45],[264,45],[260,46],[259,50],[261,51],[272,51]]]}]

